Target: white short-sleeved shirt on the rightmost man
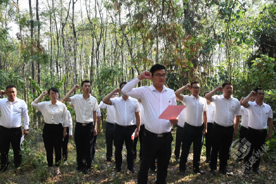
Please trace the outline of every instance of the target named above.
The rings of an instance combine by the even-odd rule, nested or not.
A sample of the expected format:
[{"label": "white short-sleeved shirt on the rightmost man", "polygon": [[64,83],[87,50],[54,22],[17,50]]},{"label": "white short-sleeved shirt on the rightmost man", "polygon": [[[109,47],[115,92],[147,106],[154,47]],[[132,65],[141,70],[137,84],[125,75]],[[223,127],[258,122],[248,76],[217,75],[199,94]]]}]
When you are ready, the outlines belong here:
[{"label": "white short-sleeved shirt on the rightmost man", "polygon": [[256,101],[248,101],[248,104],[248,127],[252,127],[256,130],[266,129],[268,118],[273,118],[270,105],[263,103],[262,106],[259,106]]}]

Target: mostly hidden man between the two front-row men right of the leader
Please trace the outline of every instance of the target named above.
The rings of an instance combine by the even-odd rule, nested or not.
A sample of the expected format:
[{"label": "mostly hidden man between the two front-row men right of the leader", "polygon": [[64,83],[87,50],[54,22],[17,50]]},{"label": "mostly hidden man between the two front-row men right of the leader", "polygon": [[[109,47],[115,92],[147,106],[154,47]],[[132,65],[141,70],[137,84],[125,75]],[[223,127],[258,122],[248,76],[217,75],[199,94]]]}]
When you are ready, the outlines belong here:
[{"label": "mostly hidden man between the two front-row men right of the leader", "polygon": [[[209,92],[204,92],[204,98],[206,94]],[[214,114],[215,114],[215,105],[214,103],[210,103],[207,101],[207,133],[205,134],[205,147],[206,147],[206,163],[210,163],[210,156],[212,150],[212,130],[213,130],[213,123],[214,123]]]}]

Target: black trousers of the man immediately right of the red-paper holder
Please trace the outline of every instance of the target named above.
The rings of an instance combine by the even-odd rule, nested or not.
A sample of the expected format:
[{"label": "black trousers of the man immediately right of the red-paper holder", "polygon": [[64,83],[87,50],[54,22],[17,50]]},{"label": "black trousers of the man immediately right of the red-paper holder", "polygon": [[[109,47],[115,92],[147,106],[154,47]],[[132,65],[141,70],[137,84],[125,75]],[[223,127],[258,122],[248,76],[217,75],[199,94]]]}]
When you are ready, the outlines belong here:
[{"label": "black trousers of the man immediately right of the red-paper holder", "polygon": [[204,130],[204,125],[202,124],[200,127],[195,127],[188,123],[185,123],[183,127],[183,150],[180,156],[179,162],[179,170],[186,170],[186,163],[188,159],[188,154],[190,151],[190,145],[193,143],[193,170],[199,170],[200,163],[200,154],[201,154],[201,146],[203,140],[202,131]]}]

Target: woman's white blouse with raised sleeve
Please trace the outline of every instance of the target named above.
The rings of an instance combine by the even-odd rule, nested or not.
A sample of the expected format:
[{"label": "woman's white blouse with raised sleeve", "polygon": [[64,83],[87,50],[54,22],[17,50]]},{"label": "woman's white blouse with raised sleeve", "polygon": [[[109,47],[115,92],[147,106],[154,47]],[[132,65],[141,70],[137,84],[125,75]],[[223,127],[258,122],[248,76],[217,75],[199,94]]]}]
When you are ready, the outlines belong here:
[{"label": "woman's white blouse with raised sleeve", "polygon": [[43,101],[39,103],[32,102],[31,105],[41,112],[45,123],[55,125],[61,123],[63,127],[69,126],[68,112],[64,103],[57,101],[55,105],[52,105],[52,101]]}]

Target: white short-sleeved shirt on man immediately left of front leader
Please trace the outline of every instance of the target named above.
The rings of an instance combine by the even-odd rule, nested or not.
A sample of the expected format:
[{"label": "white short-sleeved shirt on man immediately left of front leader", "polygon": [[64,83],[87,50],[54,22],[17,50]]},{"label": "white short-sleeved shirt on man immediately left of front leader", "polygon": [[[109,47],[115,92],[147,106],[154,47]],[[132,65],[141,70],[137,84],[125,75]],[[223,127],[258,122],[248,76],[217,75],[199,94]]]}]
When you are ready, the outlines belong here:
[{"label": "white short-sleeved shirt on man immediately left of front leader", "polygon": [[140,112],[139,102],[128,96],[125,101],[123,97],[110,99],[115,107],[117,124],[122,126],[136,125],[135,112]]}]

